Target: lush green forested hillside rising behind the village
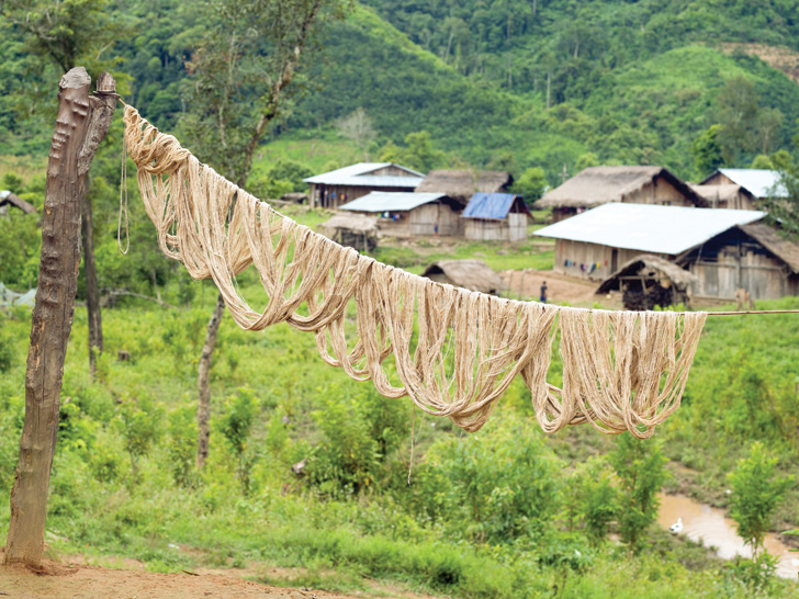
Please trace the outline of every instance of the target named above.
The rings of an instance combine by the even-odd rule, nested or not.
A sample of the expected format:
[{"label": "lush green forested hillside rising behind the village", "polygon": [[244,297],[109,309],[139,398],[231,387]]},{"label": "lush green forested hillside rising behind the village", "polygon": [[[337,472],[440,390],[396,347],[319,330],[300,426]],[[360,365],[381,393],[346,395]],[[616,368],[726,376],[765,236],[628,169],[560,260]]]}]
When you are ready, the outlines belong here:
[{"label": "lush green forested hillside rising behind the village", "polygon": [[[128,76],[123,86],[144,114],[173,129],[192,46],[207,24],[176,0],[109,8],[125,34],[103,58]],[[364,0],[326,24],[307,93],[271,140],[335,140],[335,121],[362,108],[376,131],[373,156],[427,131],[446,150],[430,167],[543,167],[554,183],[564,165],[574,173],[590,163],[660,163],[698,178],[707,163],[691,144],[731,121],[743,124],[729,128],[717,161],[749,166],[758,154],[792,151],[799,84],[747,55],[745,44],[799,49],[798,8],[794,0]],[[32,68],[19,32],[4,33],[0,140],[5,154],[42,151],[46,142],[31,137],[44,131],[36,117],[57,74]],[[31,90],[35,110],[19,100]]]}]

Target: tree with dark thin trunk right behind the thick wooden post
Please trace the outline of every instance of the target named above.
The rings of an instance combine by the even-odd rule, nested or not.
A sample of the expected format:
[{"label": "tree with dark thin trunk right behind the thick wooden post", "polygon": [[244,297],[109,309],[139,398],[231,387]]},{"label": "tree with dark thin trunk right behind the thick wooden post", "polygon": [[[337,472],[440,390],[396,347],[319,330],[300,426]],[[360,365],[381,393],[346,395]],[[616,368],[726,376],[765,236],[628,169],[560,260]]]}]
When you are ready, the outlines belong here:
[{"label": "tree with dark thin trunk right behind the thick wooden post", "polygon": [[[122,37],[123,27],[109,16],[108,4],[108,0],[11,0],[0,3],[0,11],[9,23],[25,33],[31,53],[54,63],[63,75],[79,61],[89,65],[90,70],[110,67],[100,58]],[[81,242],[89,319],[89,370],[93,376],[95,352],[103,350],[103,335],[92,226],[91,199],[85,192]]]}]

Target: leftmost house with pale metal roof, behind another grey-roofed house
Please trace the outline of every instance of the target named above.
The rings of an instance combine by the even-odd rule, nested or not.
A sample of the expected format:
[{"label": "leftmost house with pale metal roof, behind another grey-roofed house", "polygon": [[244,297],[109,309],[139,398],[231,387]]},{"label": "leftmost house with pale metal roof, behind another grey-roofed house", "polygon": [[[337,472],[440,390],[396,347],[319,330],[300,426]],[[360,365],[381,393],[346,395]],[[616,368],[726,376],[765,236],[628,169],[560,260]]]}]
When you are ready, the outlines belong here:
[{"label": "leftmost house with pale metal roof, behind another grey-roofed house", "polygon": [[394,162],[358,162],[303,179],[311,206],[335,208],[373,191],[414,191],[425,174]]}]

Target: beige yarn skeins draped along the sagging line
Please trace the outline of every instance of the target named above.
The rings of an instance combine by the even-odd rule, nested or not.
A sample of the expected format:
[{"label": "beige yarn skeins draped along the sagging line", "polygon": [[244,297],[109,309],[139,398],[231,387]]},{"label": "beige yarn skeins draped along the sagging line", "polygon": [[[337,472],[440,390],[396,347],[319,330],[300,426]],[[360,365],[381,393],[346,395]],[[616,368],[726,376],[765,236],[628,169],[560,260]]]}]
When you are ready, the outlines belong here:
[{"label": "beige yarn skeins draped along the sagging line", "polygon": [[[641,438],[679,407],[705,313],[635,313],[516,302],[436,283],[294,223],[125,108],[125,144],[165,255],[213,279],[234,320],[313,331],[322,359],[386,397],[475,431],[520,374],[547,432],[590,422]],[[268,301],[235,276],[255,264]],[[357,334],[345,319],[355,303]],[[547,383],[561,337],[563,388]],[[394,358],[397,382],[384,363]]]}]

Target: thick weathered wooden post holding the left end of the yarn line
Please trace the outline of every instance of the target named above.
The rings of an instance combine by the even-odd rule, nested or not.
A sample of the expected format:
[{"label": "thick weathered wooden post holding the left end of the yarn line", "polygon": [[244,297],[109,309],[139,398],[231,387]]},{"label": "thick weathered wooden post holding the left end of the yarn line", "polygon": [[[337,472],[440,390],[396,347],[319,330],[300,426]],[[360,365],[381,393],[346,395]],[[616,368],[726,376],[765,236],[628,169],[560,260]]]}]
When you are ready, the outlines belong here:
[{"label": "thick weathered wooden post holding the left end of the yarn line", "polygon": [[[104,81],[104,91],[113,92],[113,78],[109,76]],[[38,566],[44,551],[64,360],[72,328],[80,264],[85,174],[108,131],[115,105],[114,102],[109,110],[106,95],[90,97],[90,86],[91,78],[83,67],[71,69],[58,86],[58,117],[47,163],[42,259],[25,373],[25,421],[11,490],[11,520],[3,558],[7,564],[23,562]],[[104,125],[101,120],[106,121]]]}]

